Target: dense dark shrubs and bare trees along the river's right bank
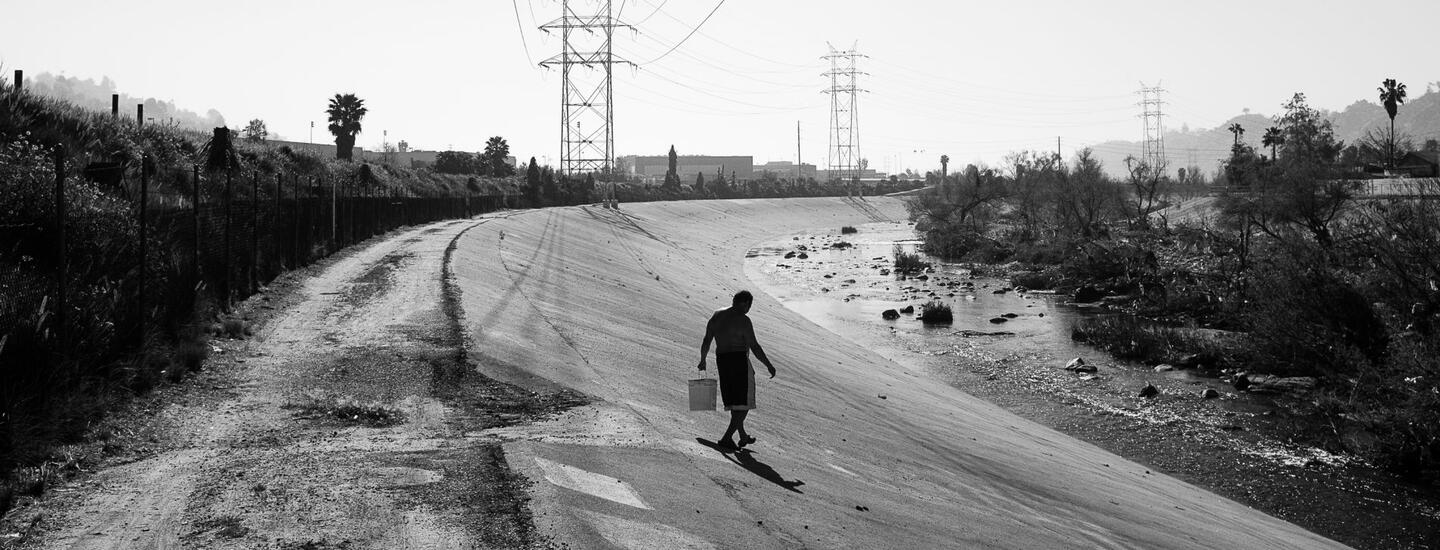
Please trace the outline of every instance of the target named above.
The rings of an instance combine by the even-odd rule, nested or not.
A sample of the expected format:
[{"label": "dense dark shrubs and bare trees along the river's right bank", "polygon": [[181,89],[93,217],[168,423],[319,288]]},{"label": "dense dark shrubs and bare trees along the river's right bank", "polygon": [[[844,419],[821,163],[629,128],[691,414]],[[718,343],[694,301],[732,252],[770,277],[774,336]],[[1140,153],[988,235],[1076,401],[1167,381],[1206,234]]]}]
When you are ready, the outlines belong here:
[{"label": "dense dark shrubs and bare trees along the river's right bank", "polygon": [[1133,314],[1074,330],[1117,356],[1316,377],[1289,402],[1316,428],[1306,436],[1433,478],[1440,189],[1359,200],[1303,96],[1277,125],[1293,140],[1276,158],[1238,144],[1224,164],[1217,223],[1168,223],[1161,209],[1179,193],[1145,190],[1175,181],[1145,167],[1110,180],[1086,151],[1068,166],[1018,154],[1009,174],[969,167],[917,194],[912,219],[932,255],[1005,263],[1018,287]]}]

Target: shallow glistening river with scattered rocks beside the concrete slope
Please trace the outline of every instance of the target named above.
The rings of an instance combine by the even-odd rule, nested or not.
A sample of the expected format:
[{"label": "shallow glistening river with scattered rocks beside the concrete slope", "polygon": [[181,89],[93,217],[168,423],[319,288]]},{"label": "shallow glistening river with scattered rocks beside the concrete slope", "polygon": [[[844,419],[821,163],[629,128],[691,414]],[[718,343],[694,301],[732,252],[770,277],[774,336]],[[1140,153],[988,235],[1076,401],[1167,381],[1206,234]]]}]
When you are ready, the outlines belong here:
[{"label": "shallow glistening river with scattered rocks beside the concrete slope", "polygon": [[[894,274],[894,248],[917,245],[906,223],[786,235],[752,249],[746,274],[788,308],[937,383],[1129,459],[1355,547],[1440,547],[1433,488],[1292,441],[1308,422],[1292,413],[1303,390],[1259,395],[1210,373],[1116,360],[1070,340],[1076,320],[1110,312],[939,262]],[[953,321],[922,323],[932,301]],[[1064,369],[1076,357],[1087,369]]]}]

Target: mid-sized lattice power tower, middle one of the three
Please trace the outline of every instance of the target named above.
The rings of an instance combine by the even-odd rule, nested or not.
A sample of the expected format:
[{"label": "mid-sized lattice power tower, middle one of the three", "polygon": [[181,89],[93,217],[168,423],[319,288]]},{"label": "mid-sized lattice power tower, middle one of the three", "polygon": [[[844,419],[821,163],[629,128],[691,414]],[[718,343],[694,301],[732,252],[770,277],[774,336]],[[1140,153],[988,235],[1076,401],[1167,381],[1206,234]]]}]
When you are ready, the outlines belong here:
[{"label": "mid-sized lattice power tower, middle one of the three", "polygon": [[860,115],[857,112],[855,94],[864,92],[855,84],[858,75],[855,59],[864,58],[851,45],[848,50],[837,50],[829,46],[829,53],[821,59],[829,59],[829,158],[828,170],[831,179],[840,179],[847,186],[860,180]]}]

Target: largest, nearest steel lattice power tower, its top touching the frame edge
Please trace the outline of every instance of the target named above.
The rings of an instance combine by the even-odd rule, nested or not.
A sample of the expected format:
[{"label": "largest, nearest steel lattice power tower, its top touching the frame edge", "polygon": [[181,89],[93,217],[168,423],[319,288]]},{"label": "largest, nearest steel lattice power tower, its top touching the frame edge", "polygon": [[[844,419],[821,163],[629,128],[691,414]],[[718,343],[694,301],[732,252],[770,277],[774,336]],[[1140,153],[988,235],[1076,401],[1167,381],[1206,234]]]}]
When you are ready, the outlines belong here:
[{"label": "largest, nearest steel lattice power tower, its top touching the frame edge", "polygon": [[[560,173],[599,173],[600,180],[608,181],[615,161],[611,69],[615,63],[635,65],[615,58],[611,46],[615,27],[634,27],[615,20],[611,0],[599,1],[595,14],[579,14],[572,4],[562,0],[560,19],[540,26],[547,33],[560,32],[560,53],[540,62],[547,69],[560,66]],[[576,73],[576,66],[590,73]]]}]

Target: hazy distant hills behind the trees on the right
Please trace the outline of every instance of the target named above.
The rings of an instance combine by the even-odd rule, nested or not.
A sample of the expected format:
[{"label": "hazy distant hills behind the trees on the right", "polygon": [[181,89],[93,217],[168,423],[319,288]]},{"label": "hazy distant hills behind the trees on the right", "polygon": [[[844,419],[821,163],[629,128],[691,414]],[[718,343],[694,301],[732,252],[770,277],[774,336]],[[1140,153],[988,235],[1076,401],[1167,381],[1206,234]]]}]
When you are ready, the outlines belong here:
[{"label": "hazy distant hills behind the trees on the right", "polygon": [[[1356,101],[1342,111],[1320,111],[1325,118],[1335,125],[1335,137],[1346,145],[1361,140],[1372,128],[1390,128],[1390,117],[1385,108],[1375,101]],[[1230,125],[1238,122],[1246,132],[1241,135],[1247,144],[1269,155],[1269,150],[1261,147],[1260,138],[1264,130],[1276,125],[1274,120],[1260,114],[1243,114],[1221,122],[1215,128],[1200,130],[1165,130],[1165,153],[1171,163],[1171,170],[1185,166],[1200,166],[1208,174],[1220,167],[1220,161],[1230,155],[1230,145],[1234,135]],[[1440,92],[1426,91],[1418,96],[1405,99],[1395,114],[1395,132],[1408,135],[1416,147],[1426,140],[1440,140]],[[1110,176],[1125,176],[1125,157],[1140,155],[1140,141],[1106,141],[1092,145],[1096,158],[1104,163],[1104,170]]]}]

